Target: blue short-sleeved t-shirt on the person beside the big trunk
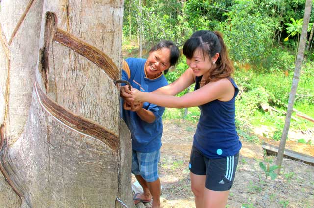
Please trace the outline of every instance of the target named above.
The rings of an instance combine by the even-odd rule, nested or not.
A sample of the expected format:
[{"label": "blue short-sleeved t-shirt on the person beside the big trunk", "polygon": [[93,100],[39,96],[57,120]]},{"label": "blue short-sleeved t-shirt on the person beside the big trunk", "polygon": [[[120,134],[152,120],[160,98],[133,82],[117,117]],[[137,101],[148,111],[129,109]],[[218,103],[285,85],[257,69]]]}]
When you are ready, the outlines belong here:
[{"label": "blue short-sleeved t-shirt on the person beside the big trunk", "polygon": [[[140,58],[126,59],[123,64],[122,79],[129,81],[133,88],[142,92],[152,92],[168,85],[163,75],[155,79],[147,78],[144,70],[145,62],[146,59]],[[123,104],[123,99],[121,100],[121,104]],[[124,110],[123,107],[121,108],[121,116],[129,127],[133,150],[148,153],[161,147],[163,131],[161,116],[165,108],[148,102],[143,104],[143,108],[154,113],[155,121],[153,123],[143,121],[136,112]]]}]

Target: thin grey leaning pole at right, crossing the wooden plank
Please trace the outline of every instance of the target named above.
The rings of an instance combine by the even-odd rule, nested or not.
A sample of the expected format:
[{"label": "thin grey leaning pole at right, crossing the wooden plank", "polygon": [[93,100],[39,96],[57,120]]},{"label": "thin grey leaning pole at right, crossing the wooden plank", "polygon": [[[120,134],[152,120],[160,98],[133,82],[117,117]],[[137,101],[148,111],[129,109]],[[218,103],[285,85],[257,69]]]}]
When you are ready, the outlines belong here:
[{"label": "thin grey leaning pole at right, crossing the wooden plank", "polygon": [[308,29],[310,15],[311,15],[311,7],[312,7],[312,0],[306,0],[305,9],[304,9],[302,32],[301,32],[301,37],[300,37],[300,44],[299,44],[299,48],[298,48],[297,59],[295,62],[292,88],[291,88],[290,95],[289,95],[285,125],[284,125],[284,129],[283,129],[283,133],[281,135],[280,144],[279,144],[279,148],[278,148],[278,155],[277,155],[277,159],[276,159],[276,165],[279,166],[279,168],[277,169],[278,173],[280,173],[281,165],[283,162],[286,139],[287,139],[287,135],[288,135],[290,124],[291,124],[291,116],[292,116],[292,111],[293,111],[295,94],[296,94],[296,90],[298,88],[298,83],[300,80],[300,72],[301,72],[301,67],[302,67],[302,62],[303,62],[303,57],[304,57],[305,44],[306,44],[306,40],[307,40],[307,29]]}]

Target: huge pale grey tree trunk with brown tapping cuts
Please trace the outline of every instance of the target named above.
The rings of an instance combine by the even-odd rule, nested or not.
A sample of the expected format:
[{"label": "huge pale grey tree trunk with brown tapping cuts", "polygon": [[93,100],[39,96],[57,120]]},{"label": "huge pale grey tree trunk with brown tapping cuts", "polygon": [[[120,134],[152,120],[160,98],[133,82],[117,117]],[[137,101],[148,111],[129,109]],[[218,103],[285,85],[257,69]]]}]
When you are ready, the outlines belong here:
[{"label": "huge pale grey tree trunk with brown tapping cuts", "polygon": [[120,0],[2,1],[0,208],[132,206],[122,18]]}]

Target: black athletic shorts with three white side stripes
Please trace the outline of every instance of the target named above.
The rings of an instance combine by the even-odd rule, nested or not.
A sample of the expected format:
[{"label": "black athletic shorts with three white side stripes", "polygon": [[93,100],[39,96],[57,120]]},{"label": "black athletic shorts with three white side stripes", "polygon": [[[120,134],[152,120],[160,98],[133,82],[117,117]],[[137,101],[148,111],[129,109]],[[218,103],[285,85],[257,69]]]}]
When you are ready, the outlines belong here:
[{"label": "black athletic shorts with three white side stripes", "polygon": [[206,175],[205,187],[213,191],[227,191],[235,179],[239,153],[218,159],[205,157],[194,146],[191,150],[189,169],[196,175]]}]

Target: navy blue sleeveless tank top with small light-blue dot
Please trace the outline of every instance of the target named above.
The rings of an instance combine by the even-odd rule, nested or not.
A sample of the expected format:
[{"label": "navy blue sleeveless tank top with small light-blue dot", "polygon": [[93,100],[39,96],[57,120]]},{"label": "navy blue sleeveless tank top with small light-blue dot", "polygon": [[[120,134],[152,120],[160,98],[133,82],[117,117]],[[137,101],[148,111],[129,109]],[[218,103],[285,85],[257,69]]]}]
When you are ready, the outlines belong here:
[{"label": "navy blue sleeveless tank top with small light-blue dot", "polygon": [[[202,76],[196,77],[194,90],[200,88],[201,79]],[[233,156],[242,147],[235,129],[235,97],[239,89],[232,78],[228,79],[235,87],[235,94],[231,100],[227,102],[213,100],[199,106],[201,116],[193,145],[211,159]]]}]

